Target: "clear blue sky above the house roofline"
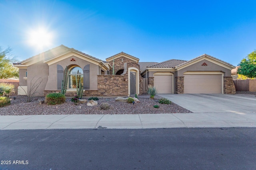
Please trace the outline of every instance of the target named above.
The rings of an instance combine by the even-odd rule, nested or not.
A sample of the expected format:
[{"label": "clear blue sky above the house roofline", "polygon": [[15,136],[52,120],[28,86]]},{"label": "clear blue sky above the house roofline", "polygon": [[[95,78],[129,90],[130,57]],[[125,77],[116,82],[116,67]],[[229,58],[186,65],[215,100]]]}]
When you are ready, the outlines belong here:
[{"label": "clear blue sky above the house roofline", "polygon": [[[0,46],[19,61],[61,44],[98,59],[121,51],[140,61],[204,53],[237,65],[256,49],[255,0],[0,0]],[[49,45],[29,44],[42,27]]]}]

